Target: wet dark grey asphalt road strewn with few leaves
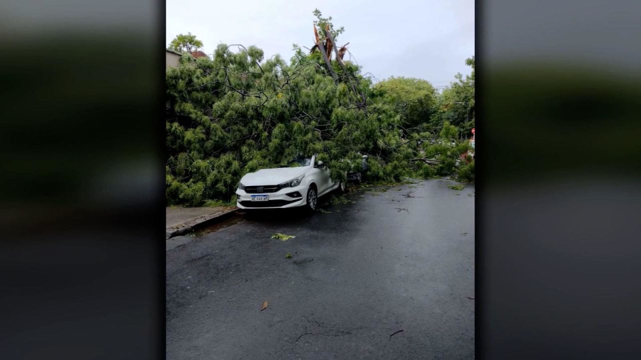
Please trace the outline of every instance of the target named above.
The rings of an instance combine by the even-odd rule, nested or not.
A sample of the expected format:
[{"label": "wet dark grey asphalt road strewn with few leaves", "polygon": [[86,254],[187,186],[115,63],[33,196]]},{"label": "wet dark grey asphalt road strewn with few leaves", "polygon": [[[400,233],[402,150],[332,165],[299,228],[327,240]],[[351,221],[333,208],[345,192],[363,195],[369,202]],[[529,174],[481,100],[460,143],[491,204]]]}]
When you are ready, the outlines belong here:
[{"label": "wet dark grey asphalt road strewn with few leaves", "polygon": [[169,240],[167,359],[473,358],[474,187],[449,184]]}]

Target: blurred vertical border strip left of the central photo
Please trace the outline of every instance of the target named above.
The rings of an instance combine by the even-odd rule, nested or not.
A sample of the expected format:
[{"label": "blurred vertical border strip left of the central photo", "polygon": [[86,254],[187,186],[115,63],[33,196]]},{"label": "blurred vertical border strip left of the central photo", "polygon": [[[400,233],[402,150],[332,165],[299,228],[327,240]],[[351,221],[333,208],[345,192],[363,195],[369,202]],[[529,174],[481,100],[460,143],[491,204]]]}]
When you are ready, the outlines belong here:
[{"label": "blurred vertical border strip left of the central photo", "polygon": [[0,5],[3,357],[164,354],[165,2]]}]

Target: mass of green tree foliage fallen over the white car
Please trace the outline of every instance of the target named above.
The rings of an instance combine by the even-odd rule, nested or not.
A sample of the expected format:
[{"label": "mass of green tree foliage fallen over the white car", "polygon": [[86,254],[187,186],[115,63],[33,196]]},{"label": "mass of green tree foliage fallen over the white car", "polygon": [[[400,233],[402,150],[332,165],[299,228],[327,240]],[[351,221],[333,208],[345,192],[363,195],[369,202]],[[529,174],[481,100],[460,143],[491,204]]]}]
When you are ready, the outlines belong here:
[{"label": "mass of green tree foliage fallen over the white car", "polygon": [[[333,29],[331,17],[315,15]],[[317,154],[334,181],[358,170],[363,154],[369,156],[370,182],[460,172],[460,155],[469,145],[458,140],[455,122],[435,120],[442,114],[427,81],[390,78],[372,86],[345,61],[367,97],[363,108],[349,77],[335,82],[318,52],[294,45],[287,64],[278,55],[265,60],[258,47],[233,49],[219,44],[212,58],[183,56],[167,70],[173,104],[165,119],[169,205],[234,201],[244,174],[287,164],[298,153]],[[342,74],[336,60],[332,66]]]}]

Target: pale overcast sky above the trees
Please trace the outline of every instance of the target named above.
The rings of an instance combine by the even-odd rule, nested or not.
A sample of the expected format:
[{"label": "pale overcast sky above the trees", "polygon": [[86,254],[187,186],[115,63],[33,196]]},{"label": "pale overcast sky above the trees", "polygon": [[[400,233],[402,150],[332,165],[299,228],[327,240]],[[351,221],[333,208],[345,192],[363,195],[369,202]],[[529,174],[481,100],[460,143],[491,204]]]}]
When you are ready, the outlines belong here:
[{"label": "pale overcast sky above the trees", "polygon": [[[331,16],[337,39],[362,66],[382,80],[408,76],[447,85],[469,74],[474,55],[474,0],[167,0],[167,44],[191,32],[212,54],[219,43],[256,45],[265,58],[289,62],[292,44],[312,47],[312,12]],[[349,54],[345,55],[349,58]]]}]

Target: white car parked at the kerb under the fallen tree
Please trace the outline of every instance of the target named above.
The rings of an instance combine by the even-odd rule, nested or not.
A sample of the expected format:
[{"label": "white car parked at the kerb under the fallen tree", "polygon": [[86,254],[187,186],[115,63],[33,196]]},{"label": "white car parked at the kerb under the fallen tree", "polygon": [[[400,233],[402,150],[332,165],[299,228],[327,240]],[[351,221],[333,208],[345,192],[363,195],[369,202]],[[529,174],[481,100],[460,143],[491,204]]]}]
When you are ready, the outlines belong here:
[{"label": "white car parked at the kerb under the fallen tree", "polygon": [[292,167],[265,168],[240,179],[236,206],[240,209],[286,209],[306,206],[316,209],[318,198],[333,190],[345,190],[334,183],[322,161],[298,156]]}]

